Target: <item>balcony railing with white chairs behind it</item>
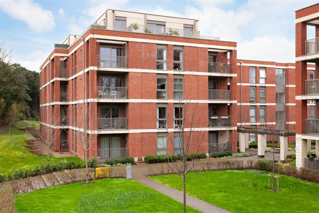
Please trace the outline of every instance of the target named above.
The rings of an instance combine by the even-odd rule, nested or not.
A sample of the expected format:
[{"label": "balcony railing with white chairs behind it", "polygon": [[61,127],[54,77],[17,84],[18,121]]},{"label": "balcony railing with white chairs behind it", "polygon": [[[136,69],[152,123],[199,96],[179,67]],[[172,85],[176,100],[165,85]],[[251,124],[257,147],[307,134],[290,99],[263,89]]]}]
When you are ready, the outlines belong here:
[{"label": "balcony railing with white chairs behind it", "polygon": [[98,98],[127,99],[127,87],[97,87]]}]

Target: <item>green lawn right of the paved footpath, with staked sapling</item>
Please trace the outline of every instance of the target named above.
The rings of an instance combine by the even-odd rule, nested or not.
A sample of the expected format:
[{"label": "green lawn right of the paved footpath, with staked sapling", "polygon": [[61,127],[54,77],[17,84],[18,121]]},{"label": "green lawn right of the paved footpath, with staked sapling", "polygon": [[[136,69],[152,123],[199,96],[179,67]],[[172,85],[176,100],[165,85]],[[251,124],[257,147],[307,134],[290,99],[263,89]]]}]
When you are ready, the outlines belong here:
[{"label": "green lawn right of the paved footpath, with staked sapling", "polygon": [[[182,191],[177,174],[150,178]],[[279,187],[269,191],[260,171],[203,171],[186,180],[187,194],[231,212],[319,212],[319,184],[279,175]]]}]

